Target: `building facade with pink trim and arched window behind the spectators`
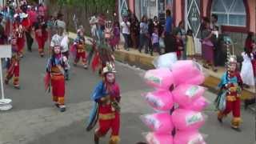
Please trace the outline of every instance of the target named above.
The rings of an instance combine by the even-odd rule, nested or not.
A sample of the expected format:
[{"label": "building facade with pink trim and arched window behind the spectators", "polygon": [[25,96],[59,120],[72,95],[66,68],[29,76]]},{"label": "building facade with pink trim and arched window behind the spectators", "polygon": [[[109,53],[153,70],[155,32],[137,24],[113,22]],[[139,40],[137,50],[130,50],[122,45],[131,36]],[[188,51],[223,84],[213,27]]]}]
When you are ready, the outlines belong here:
[{"label": "building facade with pink trim and arched window behind the spectators", "polygon": [[[174,26],[184,21],[186,29],[194,31],[195,38],[199,35],[202,17],[211,14],[218,15],[218,24],[223,33],[230,34],[234,42],[243,48],[246,34],[251,31],[256,34],[256,0],[118,0],[118,10],[129,9],[140,19],[142,15],[148,18],[158,16],[164,22],[165,11],[171,10]],[[120,20],[122,21],[121,14]],[[200,53],[200,50],[198,50]]]}]

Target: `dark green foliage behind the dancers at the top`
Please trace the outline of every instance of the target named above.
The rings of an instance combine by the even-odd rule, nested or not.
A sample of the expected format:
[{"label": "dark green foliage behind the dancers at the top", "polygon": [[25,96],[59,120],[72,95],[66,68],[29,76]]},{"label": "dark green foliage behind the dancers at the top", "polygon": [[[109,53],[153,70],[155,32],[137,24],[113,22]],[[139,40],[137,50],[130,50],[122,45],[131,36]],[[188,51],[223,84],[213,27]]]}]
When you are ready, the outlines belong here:
[{"label": "dark green foliage behind the dancers at the top", "polygon": [[51,9],[50,14],[62,12],[70,30],[74,30],[74,14],[78,18],[78,25],[89,29],[89,18],[94,14],[106,14],[110,18],[115,10],[115,2],[116,0],[49,0],[47,7]]}]

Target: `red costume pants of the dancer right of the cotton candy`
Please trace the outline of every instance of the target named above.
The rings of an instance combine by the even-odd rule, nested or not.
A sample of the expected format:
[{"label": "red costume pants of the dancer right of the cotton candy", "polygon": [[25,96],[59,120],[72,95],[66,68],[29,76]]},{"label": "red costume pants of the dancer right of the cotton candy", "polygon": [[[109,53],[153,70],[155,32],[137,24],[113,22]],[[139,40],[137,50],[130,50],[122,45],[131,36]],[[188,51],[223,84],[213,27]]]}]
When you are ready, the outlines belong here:
[{"label": "red costume pants of the dancer right of the cotton candy", "polygon": [[240,98],[237,96],[226,96],[226,109],[218,113],[218,118],[223,118],[232,111],[232,126],[238,128],[241,122],[240,118]]}]

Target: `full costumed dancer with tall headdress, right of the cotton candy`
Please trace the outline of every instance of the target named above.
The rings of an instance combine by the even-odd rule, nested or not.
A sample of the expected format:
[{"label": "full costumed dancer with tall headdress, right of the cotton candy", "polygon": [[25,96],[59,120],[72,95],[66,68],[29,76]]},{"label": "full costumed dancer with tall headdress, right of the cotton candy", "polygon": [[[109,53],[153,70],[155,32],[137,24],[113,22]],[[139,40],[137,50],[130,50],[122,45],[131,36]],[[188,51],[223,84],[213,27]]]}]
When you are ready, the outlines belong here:
[{"label": "full costumed dancer with tall headdress, right of the cotton candy", "polygon": [[231,55],[228,50],[228,70],[222,75],[218,87],[221,89],[216,99],[218,112],[218,121],[222,123],[222,118],[226,117],[232,111],[233,119],[231,126],[238,130],[241,123],[240,114],[240,96],[242,93],[242,78],[237,70],[237,60],[235,55]]}]

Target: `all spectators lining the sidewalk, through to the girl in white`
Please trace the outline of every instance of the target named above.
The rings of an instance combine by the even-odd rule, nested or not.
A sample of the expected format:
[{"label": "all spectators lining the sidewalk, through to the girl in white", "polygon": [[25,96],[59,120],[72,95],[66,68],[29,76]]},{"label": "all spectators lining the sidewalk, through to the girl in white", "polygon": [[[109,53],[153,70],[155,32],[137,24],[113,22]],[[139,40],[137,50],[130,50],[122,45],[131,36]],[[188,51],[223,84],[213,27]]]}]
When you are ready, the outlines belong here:
[{"label": "all spectators lining the sidewalk, through to the girl in white", "polygon": [[[206,69],[211,68],[214,72],[218,71],[217,66],[226,66],[226,38],[229,36],[222,33],[221,28],[218,25],[218,15],[212,14],[211,18],[202,18],[198,37],[202,43],[203,66]],[[193,30],[188,29],[186,31],[183,21],[179,22],[178,26],[174,26],[170,10],[166,10],[165,25],[162,25],[156,16],[149,19],[144,15],[139,21],[135,14],[129,12],[122,17],[120,27],[118,22],[115,23],[114,29],[115,47],[118,46],[120,40],[118,33],[120,31],[125,41],[125,50],[133,47],[138,49],[140,53],[144,49],[146,54],[151,55],[154,54],[154,51],[158,52],[159,55],[175,52],[178,59],[197,60],[198,58],[195,52]],[[256,48],[253,38],[254,34],[249,32],[244,45],[244,52],[241,54],[243,62],[240,69],[242,69],[242,80],[246,87],[254,86],[255,83]]]}]

